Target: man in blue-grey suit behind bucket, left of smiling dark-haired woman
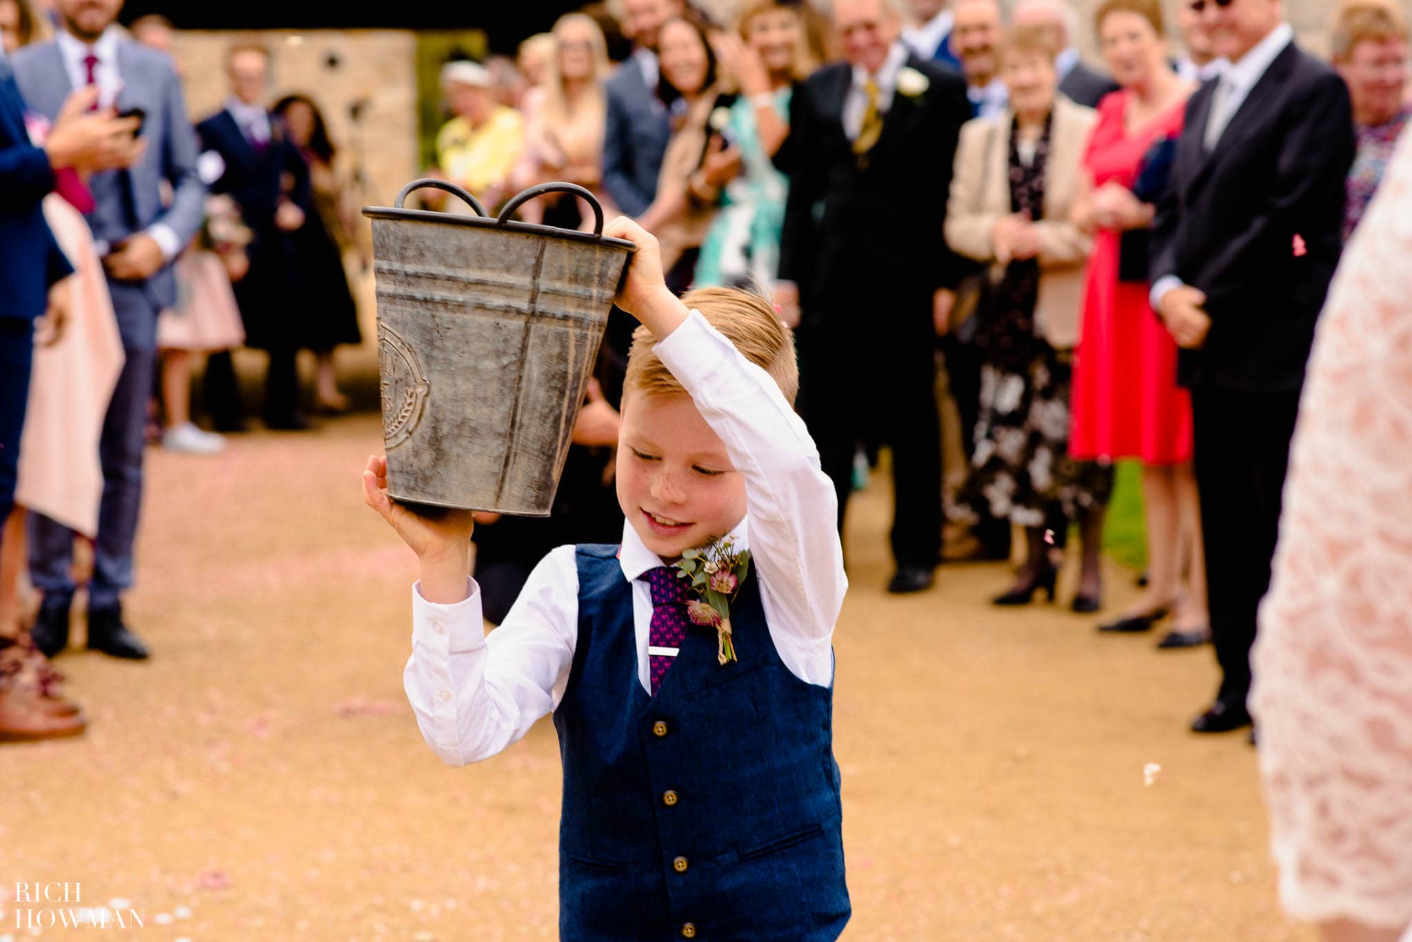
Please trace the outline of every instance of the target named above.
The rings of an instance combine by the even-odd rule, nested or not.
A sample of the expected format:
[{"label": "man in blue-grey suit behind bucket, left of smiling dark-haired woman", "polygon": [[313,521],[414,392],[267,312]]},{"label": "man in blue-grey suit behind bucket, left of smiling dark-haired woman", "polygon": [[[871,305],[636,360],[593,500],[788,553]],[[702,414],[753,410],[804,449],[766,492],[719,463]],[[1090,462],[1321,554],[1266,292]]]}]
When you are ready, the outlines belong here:
[{"label": "man in blue-grey suit behind bucket, left of smiling dark-haired woman", "polygon": [[657,196],[657,175],[672,136],[657,96],[657,34],[682,14],[682,0],[624,0],[623,8],[634,51],[607,82],[603,188],[624,213],[641,216]]}]

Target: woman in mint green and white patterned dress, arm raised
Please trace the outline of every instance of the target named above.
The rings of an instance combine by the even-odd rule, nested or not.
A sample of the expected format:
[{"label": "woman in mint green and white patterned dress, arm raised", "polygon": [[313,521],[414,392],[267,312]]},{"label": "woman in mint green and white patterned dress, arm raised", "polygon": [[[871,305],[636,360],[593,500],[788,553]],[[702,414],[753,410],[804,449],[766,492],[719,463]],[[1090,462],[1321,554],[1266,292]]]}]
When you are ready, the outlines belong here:
[{"label": "woman in mint green and white patterned dress, arm raised", "polygon": [[[737,38],[738,34],[738,38]],[[719,209],[702,242],[693,285],[751,285],[775,281],[789,178],[771,158],[789,136],[789,96],[813,71],[805,27],[788,0],[748,0],[717,52],[740,83],[710,113],[710,148],[734,150],[740,169],[720,192]]]}]

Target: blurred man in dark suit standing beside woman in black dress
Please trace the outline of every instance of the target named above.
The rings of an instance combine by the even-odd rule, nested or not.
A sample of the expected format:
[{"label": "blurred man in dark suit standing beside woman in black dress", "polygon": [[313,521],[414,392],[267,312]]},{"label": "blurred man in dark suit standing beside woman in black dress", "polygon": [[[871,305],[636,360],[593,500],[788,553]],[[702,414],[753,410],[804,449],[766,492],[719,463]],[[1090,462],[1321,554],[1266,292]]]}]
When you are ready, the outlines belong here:
[{"label": "blurred man in dark suit standing beside woman in black dress", "polygon": [[[304,226],[312,201],[309,167],[284,129],[264,107],[270,54],[257,45],[236,47],[226,59],[232,96],[226,107],[201,124],[205,154],[220,157],[223,171],[212,185],[230,193],[254,236],[247,253],[250,270],[234,284],[246,346],[267,350],[265,425],[275,429],[308,428],[299,415],[297,353],[302,343],[305,312],[292,308],[298,297],[298,270],[291,233]],[[203,160],[209,160],[203,154]],[[206,360],[206,407],[216,427],[240,431],[244,425],[230,353]]]}]

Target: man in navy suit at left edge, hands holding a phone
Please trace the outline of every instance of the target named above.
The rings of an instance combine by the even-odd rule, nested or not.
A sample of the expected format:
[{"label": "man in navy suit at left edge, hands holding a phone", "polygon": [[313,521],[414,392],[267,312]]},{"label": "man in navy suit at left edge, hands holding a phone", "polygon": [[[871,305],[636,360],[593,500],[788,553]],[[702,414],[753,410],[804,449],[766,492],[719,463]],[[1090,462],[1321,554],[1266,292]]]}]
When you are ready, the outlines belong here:
[{"label": "man in navy suit at left edge, hands holding a phone", "polygon": [[44,147],[35,147],[10,59],[0,49],[0,521],[14,507],[34,322],[49,308],[51,285],[73,271],[44,222],[41,202],[54,189],[56,171],[127,167],[140,153],[131,137],[137,121],[90,113],[96,100],[96,92],[76,92]]}]

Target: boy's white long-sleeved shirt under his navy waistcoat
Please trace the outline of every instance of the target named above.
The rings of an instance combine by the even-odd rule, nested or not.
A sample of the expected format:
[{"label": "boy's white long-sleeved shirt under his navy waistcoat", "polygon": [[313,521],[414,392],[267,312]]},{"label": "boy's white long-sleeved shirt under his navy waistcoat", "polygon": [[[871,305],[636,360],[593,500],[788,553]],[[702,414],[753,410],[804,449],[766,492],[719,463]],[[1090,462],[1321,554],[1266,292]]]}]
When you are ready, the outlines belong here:
[{"label": "boy's white long-sleeved shirt under his navy waistcoat", "polygon": [[[746,518],[731,531],[751,552],[770,638],[805,682],[833,682],[833,626],[849,582],[836,530],[837,499],[803,422],[770,376],[696,311],[657,347],[746,482]],[[651,692],[648,569],[664,565],[623,524],[618,554],[633,588],[637,675]],[[426,744],[448,765],[489,758],[552,712],[569,682],[579,633],[575,548],[545,556],[504,623],[487,637],[480,592],[433,604],[412,588],[412,655],[402,676]],[[741,650],[741,661],[753,655]]]}]

